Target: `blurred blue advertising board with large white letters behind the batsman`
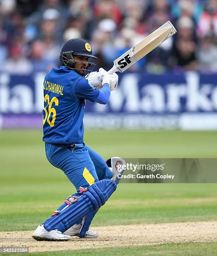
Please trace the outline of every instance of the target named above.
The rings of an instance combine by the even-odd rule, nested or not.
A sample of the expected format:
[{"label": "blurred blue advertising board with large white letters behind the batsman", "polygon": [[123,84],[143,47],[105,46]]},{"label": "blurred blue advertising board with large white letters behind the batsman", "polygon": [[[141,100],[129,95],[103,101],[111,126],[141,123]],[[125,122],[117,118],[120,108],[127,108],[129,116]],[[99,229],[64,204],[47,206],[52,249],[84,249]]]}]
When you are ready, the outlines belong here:
[{"label": "blurred blue advertising board with large white letters behind the batsman", "polygon": [[[42,127],[45,73],[0,74],[0,127]],[[217,129],[217,74],[125,72],[107,105],[86,102],[87,128]]]}]

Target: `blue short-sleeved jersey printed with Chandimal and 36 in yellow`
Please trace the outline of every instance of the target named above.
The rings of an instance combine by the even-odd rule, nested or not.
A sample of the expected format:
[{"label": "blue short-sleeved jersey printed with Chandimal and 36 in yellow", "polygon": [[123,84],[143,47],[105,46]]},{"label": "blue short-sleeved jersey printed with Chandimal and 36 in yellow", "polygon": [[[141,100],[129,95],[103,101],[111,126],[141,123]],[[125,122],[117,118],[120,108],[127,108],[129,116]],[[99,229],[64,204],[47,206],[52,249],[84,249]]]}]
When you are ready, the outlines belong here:
[{"label": "blue short-sleeved jersey printed with Chandimal and 36 in yellow", "polygon": [[85,100],[96,101],[100,91],[66,66],[53,68],[44,80],[43,141],[83,143]]}]

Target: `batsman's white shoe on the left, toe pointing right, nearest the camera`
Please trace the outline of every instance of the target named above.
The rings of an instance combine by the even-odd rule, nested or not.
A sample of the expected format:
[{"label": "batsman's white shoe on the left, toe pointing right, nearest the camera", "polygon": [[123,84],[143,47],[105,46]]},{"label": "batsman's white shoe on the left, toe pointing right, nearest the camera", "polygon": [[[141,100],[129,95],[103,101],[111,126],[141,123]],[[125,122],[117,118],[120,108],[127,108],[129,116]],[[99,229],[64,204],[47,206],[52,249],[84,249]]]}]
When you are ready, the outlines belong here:
[{"label": "batsman's white shoe on the left, toe pointing right, nearest the camera", "polygon": [[64,235],[57,229],[47,231],[44,228],[44,225],[38,225],[38,228],[35,229],[32,238],[39,241],[68,241],[71,239],[71,236]]}]

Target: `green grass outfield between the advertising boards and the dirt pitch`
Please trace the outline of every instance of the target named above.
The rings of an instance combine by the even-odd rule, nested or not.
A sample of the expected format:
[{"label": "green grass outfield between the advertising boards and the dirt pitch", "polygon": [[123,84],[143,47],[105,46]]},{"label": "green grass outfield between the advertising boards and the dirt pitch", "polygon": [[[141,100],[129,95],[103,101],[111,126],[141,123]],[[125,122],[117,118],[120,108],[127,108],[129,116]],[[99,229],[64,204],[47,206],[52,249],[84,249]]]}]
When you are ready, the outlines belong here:
[{"label": "green grass outfield between the advertising boards and the dirt pitch", "polygon": [[[75,192],[62,171],[48,163],[41,136],[40,131],[0,131],[1,231],[35,229]],[[85,142],[105,159],[217,158],[216,131],[86,131]],[[119,184],[93,225],[217,220],[216,197],[217,184]],[[164,251],[165,246],[156,246],[156,250]],[[184,250],[184,245],[178,247]],[[130,248],[128,252],[132,254]]]}]

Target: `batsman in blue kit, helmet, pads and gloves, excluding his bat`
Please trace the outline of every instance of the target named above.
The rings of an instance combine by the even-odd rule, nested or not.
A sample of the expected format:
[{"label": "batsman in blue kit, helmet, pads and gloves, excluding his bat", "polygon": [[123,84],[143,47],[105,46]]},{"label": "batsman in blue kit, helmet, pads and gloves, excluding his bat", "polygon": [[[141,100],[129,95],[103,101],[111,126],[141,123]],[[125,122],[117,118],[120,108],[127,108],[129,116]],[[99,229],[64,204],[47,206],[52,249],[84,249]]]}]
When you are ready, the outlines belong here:
[{"label": "batsman in blue kit, helmet, pads and gloves, excluding his bat", "polygon": [[[90,44],[81,38],[71,39],[61,50],[61,67],[53,68],[45,76],[43,141],[46,157],[66,174],[77,192],[67,197],[50,218],[36,228],[33,233],[36,240],[98,237],[97,232],[89,230],[91,221],[119,182],[111,169],[113,159],[106,164],[83,141],[86,100],[106,104],[118,84],[115,73],[108,74],[102,68],[91,72],[95,64],[90,58],[96,59]],[[92,86],[94,79],[102,81],[101,90]]]}]

